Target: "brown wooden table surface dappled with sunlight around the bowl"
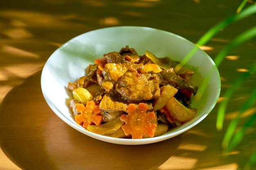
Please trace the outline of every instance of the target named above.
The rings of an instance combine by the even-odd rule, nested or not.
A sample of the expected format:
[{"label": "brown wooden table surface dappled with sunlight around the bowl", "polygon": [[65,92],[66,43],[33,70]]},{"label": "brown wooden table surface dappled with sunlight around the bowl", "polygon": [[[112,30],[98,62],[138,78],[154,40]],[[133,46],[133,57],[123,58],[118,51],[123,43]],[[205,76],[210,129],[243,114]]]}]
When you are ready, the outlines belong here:
[{"label": "brown wooden table surface dappled with sunlight around the bowl", "polygon": [[[245,79],[216,130],[219,102],[197,126],[166,141],[126,146],[93,139],[59,119],[43,98],[42,68],[71,38],[109,26],[149,26],[196,42],[211,26],[236,12],[241,0],[8,0],[0,6],[1,170],[178,170],[243,168],[256,145],[249,128],[239,146],[222,153],[225,130],[255,87]],[[250,0],[248,4],[255,3]],[[236,35],[255,26],[256,15],[228,26],[202,49],[212,58]],[[219,66],[220,100],[255,61],[256,39],[232,50]],[[241,123],[254,113],[250,108]],[[256,166],[253,167],[256,169]]]}]

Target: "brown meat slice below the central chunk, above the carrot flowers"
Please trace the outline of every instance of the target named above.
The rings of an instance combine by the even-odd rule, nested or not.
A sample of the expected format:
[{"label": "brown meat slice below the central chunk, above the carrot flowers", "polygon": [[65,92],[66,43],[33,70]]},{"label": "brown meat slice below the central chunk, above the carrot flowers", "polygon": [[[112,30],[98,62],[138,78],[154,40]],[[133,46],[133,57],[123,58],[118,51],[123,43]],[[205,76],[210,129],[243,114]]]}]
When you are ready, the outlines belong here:
[{"label": "brown meat slice below the central chunk, above the carrot flowers", "polygon": [[[139,105],[139,102],[133,102],[136,106]],[[99,108],[104,111],[118,111],[122,110],[124,112],[127,112],[127,107],[130,103],[120,97],[120,95],[106,93],[100,104]],[[152,103],[146,102],[145,103],[148,106],[148,110],[152,110],[153,106]]]}]

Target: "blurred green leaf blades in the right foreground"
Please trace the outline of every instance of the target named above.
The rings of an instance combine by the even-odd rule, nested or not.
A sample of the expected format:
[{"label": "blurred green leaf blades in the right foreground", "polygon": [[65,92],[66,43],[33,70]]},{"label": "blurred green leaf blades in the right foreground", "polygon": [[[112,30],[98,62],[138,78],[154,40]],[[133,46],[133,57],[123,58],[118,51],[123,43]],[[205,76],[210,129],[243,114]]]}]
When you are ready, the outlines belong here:
[{"label": "blurred green leaf blades in the right foreground", "polygon": [[[196,43],[198,46],[202,46],[206,44],[211,38],[213,38],[214,35],[219,33],[222,29],[224,29],[226,26],[229,26],[230,24],[237,22],[238,20],[241,20],[243,18],[247,18],[250,15],[253,15],[256,13],[256,4],[251,4],[248,7],[244,8],[247,3],[247,0],[243,0],[243,2],[238,7],[236,13],[234,15],[231,15],[226,20],[223,20],[213,26],[209,31],[207,31]],[[224,60],[225,56],[236,46],[239,46],[243,42],[246,42],[247,40],[250,40],[256,36],[256,26],[252,27],[251,29],[246,30],[245,32],[241,33],[240,35],[236,36],[234,40],[232,40],[227,46],[225,46],[214,58],[214,62],[216,66],[218,67],[222,61]],[[195,52],[199,49],[198,46],[195,46],[180,62],[180,65],[178,65],[175,70],[178,71],[186,62],[190,60],[190,58],[195,54]],[[231,84],[231,86],[225,91],[223,100],[220,102],[220,106],[218,108],[217,113],[217,121],[216,121],[216,128],[218,130],[222,130],[223,122],[225,118],[226,108],[228,106],[228,102],[231,99],[233,93],[243,84],[245,78],[250,77],[256,73],[256,62],[252,64],[252,66],[249,68],[248,72],[243,73],[240,77],[236,79],[234,83]],[[198,89],[197,96],[201,96],[208,83],[211,79],[212,71],[209,71],[207,74],[207,77],[204,79],[202,84],[200,85],[200,88]],[[240,110],[238,111],[238,115],[231,120],[231,122],[228,125],[228,128],[225,132],[225,136],[222,141],[222,148],[224,150],[224,153],[231,152],[238,146],[240,141],[243,140],[243,137],[245,136],[245,131],[254,125],[254,121],[256,119],[256,112],[254,112],[251,116],[247,118],[245,123],[242,125],[242,127],[238,128],[238,123],[240,121],[241,115],[245,113],[245,111],[249,108],[252,108],[256,103],[256,88],[252,89],[251,96],[244,102]],[[244,169],[250,169],[251,166],[256,161],[256,151],[252,154],[250,158],[248,158],[247,163],[244,166]]]}]

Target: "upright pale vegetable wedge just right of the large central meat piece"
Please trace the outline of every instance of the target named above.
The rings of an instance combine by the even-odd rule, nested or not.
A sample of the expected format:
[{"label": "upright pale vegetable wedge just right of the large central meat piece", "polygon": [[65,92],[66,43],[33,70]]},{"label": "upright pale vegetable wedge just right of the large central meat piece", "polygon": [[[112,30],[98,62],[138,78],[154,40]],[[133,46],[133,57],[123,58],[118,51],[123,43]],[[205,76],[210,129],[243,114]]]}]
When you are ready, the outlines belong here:
[{"label": "upright pale vegetable wedge just right of the large central meat piece", "polygon": [[155,105],[153,106],[153,111],[163,108],[178,91],[177,88],[170,85],[162,86],[161,88],[162,91],[160,97],[156,100]]}]

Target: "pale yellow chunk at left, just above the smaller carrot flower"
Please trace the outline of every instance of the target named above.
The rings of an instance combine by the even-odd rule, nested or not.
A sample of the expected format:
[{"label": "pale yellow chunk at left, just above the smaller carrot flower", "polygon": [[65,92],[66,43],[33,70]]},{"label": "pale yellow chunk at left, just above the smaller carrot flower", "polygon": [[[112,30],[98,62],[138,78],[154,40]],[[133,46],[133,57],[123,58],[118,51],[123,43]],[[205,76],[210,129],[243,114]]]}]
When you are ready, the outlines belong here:
[{"label": "pale yellow chunk at left, just above the smaller carrot flower", "polygon": [[90,101],[93,99],[93,96],[91,95],[91,93],[82,87],[74,89],[72,93],[73,93],[74,99],[78,100],[79,102],[82,102],[83,104],[86,104],[87,101]]}]

